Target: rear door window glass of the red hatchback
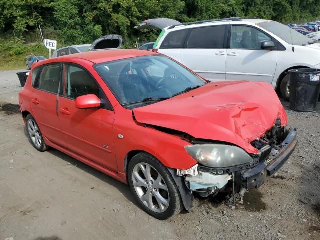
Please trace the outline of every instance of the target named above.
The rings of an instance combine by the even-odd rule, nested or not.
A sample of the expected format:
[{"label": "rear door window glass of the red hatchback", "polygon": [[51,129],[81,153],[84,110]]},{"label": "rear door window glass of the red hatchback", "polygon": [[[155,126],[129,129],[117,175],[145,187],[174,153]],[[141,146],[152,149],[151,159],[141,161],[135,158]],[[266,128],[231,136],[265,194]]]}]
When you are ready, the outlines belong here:
[{"label": "rear door window glass of the red hatchback", "polygon": [[61,76],[60,64],[43,66],[37,88],[57,93]]}]

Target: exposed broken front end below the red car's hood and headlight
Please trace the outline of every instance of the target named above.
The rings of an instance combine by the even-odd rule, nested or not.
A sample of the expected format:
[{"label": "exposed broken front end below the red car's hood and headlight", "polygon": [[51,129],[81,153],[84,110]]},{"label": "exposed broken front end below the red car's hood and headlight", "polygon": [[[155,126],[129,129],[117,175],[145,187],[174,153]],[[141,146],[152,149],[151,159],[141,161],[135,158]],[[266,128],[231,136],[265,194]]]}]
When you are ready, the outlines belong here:
[{"label": "exposed broken front end below the red car's hood and headlight", "polygon": [[[267,176],[282,166],[296,145],[296,141],[293,142],[295,135],[296,130],[282,127],[277,120],[262,137],[251,142],[259,150],[258,154],[250,154],[251,162],[222,168],[199,163],[186,171],[177,170],[177,175],[183,176],[187,188],[201,197],[215,196],[218,192],[228,193],[226,200],[234,208],[237,200],[242,201],[246,190],[261,186]],[[289,145],[292,145],[292,151],[286,152]],[[284,154],[285,159],[281,160],[281,164],[272,171],[268,170],[282,153],[287,154]]]}]

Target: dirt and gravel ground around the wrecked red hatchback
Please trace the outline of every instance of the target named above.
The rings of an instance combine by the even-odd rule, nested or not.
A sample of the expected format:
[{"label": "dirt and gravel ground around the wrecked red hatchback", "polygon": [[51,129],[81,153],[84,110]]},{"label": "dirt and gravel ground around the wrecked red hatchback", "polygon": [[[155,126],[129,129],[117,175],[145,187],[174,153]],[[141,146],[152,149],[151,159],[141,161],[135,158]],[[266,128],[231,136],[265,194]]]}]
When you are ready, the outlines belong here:
[{"label": "dirt and gravel ground around the wrecked red hatchback", "polygon": [[320,105],[289,110],[298,146],[276,177],[231,210],[195,199],[165,221],[144,213],[127,185],[28,142],[19,114],[17,71],[0,71],[0,240],[320,239]]}]

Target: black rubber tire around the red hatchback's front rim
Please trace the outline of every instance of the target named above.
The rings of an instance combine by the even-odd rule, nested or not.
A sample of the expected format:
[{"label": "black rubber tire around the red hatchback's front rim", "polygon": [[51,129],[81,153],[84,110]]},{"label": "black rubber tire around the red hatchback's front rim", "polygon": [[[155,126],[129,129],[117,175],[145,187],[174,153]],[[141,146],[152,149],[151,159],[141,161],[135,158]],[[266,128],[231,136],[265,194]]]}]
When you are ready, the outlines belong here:
[{"label": "black rubber tire around the red hatchback's front rim", "polygon": [[[133,185],[133,179],[132,179],[132,174],[133,174],[133,169],[137,164],[140,163],[147,163],[150,166],[152,166],[158,174],[160,174],[160,176],[162,177],[167,189],[168,189],[168,206],[167,209],[163,212],[155,212],[151,209],[149,209],[140,199],[140,197],[138,196],[134,185]],[[159,220],[165,220],[169,217],[172,217],[174,215],[177,215],[182,209],[183,209],[183,204],[182,204],[182,200],[181,200],[181,196],[179,193],[179,190],[174,182],[174,179],[172,178],[172,175],[170,174],[170,172],[168,171],[168,169],[163,166],[163,164],[156,159],[154,156],[146,153],[146,152],[141,152],[136,154],[131,161],[129,162],[128,165],[128,183],[129,186],[131,188],[132,193],[135,196],[135,199],[137,200],[137,202],[139,203],[140,207],[147,212],[148,214],[150,214],[151,216],[159,219]],[[147,192],[145,193],[147,194]]]}]

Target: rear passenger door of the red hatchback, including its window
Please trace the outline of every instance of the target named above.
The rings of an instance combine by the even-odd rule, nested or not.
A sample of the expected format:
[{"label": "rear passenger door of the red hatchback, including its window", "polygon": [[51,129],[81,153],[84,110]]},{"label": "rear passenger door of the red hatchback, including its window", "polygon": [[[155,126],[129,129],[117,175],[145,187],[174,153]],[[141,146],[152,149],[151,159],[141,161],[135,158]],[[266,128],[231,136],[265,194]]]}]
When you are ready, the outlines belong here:
[{"label": "rear passenger door of the red hatchback, including its window", "polygon": [[[64,146],[60,129],[60,121],[56,109],[56,99],[61,79],[61,64],[44,65],[32,70],[32,85],[34,90],[30,95],[33,117],[42,135],[54,144]],[[33,74],[35,78],[33,77]]]}]

